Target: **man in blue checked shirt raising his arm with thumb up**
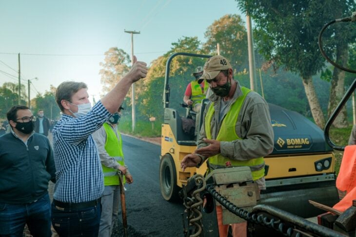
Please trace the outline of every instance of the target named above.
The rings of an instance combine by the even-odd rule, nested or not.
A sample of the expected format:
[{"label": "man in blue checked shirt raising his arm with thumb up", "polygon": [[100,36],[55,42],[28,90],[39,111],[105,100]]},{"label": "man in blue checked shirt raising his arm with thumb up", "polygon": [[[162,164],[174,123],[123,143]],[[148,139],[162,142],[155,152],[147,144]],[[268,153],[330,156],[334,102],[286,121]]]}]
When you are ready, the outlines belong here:
[{"label": "man in blue checked shirt raising his arm with thumb up", "polygon": [[146,63],[134,56],[130,72],[93,108],[85,83],[63,82],[57,88],[56,102],[62,117],[53,128],[57,182],[52,224],[59,236],[98,236],[99,198],[104,182],[98,148],[91,134],[119,109],[131,85],[146,73]]}]

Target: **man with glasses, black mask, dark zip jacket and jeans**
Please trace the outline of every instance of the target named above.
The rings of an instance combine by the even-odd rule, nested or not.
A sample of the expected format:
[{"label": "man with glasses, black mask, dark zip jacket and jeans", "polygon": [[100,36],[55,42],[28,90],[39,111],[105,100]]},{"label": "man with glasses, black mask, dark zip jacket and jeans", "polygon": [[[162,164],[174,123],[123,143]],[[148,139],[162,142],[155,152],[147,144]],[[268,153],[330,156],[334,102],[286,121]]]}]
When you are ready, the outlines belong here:
[{"label": "man with glasses, black mask, dark zip jacket and jeans", "polygon": [[11,132],[0,137],[0,236],[51,237],[48,182],[56,182],[50,142],[33,131],[35,117],[26,106],[6,114]]}]

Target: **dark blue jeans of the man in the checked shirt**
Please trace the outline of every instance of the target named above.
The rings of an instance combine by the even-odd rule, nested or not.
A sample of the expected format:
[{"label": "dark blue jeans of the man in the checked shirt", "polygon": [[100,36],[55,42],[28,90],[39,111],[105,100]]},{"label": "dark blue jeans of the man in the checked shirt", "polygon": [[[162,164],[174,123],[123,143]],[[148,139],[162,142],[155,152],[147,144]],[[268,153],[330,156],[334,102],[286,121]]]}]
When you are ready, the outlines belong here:
[{"label": "dark blue jeans of the man in the checked shirt", "polygon": [[97,237],[101,205],[76,210],[58,209],[52,202],[52,225],[60,237]]}]

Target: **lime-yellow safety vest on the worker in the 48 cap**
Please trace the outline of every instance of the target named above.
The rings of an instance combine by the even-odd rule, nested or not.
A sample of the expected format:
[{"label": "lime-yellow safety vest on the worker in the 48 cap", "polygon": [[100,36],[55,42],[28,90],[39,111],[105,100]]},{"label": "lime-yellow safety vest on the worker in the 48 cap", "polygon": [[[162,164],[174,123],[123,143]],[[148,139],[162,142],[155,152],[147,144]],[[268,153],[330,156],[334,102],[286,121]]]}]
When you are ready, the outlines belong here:
[{"label": "lime-yellow safety vest on the worker in the 48 cap", "polygon": [[[242,140],[240,137],[237,136],[236,134],[236,122],[237,122],[237,117],[238,113],[241,109],[241,106],[243,102],[245,101],[246,95],[251,91],[250,89],[247,89],[245,87],[241,87],[243,95],[238,97],[237,100],[234,102],[233,105],[231,105],[230,110],[227,112],[225,115],[225,118],[222,121],[221,128],[219,130],[218,136],[216,140],[218,141],[227,141],[231,142],[234,140]],[[206,137],[208,139],[212,139],[211,136],[211,119],[215,113],[214,109],[214,103],[210,104],[210,107],[208,109],[208,112],[205,117],[205,132],[206,132]],[[264,164],[263,157],[251,159],[248,161],[237,161],[237,160],[231,160],[229,158],[226,158],[222,156],[221,154],[217,154],[215,156],[209,157],[209,163],[210,164],[216,164],[216,165],[222,165],[225,166],[226,162],[230,162],[232,166],[250,166],[251,169],[254,166],[261,166],[261,164]],[[264,176],[264,168],[260,170],[255,170],[252,171],[252,178],[253,180],[257,180],[259,178],[262,178]]]}]

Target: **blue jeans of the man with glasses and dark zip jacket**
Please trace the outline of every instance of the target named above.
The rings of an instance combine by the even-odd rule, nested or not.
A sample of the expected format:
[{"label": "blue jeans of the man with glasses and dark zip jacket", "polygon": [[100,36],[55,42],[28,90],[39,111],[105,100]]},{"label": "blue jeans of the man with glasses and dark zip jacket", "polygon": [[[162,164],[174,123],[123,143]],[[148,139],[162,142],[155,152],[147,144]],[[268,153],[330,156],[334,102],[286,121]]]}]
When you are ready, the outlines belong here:
[{"label": "blue jeans of the man with glasses and dark zip jacket", "polygon": [[48,193],[27,204],[0,202],[0,236],[22,237],[27,224],[34,237],[51,237],[51,203]]}]

